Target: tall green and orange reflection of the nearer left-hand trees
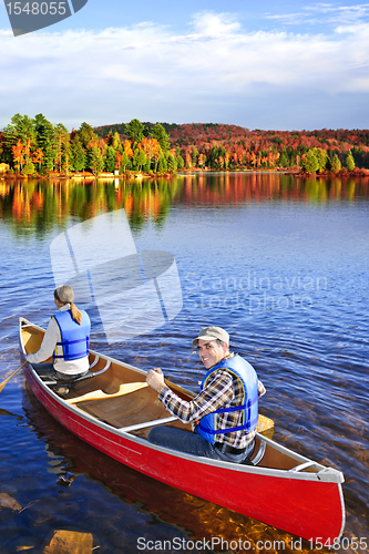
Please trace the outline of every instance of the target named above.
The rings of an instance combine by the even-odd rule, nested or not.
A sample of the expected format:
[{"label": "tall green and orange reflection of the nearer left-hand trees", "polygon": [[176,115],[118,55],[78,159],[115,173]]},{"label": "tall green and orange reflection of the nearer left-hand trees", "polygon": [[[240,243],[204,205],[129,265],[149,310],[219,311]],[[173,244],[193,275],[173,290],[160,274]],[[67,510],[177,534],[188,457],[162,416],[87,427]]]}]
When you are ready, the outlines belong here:
[{"label": "tall green and orange reflection of the nearer left-hand trees", "polygon": [[132,229],[140,229],[147,218],[161,226],[176,186],[168,181],[120,183],[93,181],[19,181],[0,184],[0,217],[17,234],[44,235],[64,228],[70,217],[84,220],[100,213],[124,208]]}]

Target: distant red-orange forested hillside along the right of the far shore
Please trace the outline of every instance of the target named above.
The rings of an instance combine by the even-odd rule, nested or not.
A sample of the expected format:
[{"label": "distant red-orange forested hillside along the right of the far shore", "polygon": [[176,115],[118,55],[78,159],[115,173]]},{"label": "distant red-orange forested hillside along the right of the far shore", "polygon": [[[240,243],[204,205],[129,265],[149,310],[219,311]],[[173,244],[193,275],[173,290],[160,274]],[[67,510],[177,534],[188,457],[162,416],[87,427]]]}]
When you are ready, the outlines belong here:
[{"label": "distant red-orange forested hillside along the right of the far shore", "polygon": [[[369,167],[369,130],[249,131],[237,125],[161,123],[171,148],[187,168],[305,168],[307,172]],[[150,131],[153,123],[144,123]],[[99,136],[125,125],[98,127]]]}]

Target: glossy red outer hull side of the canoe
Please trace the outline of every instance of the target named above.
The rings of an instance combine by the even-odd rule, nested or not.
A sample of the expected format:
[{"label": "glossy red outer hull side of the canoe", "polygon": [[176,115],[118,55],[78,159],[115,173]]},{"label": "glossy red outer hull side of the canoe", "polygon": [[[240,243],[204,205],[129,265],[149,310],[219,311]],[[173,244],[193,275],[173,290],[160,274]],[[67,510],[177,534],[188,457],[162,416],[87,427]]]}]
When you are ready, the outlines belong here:
[{"label": "glossy red outer hull side of the canoe", "polygon": [[[95,424],[58,401],[25,366],[27,380],[43,407],[82,441],[119,462],[185,492],[254,517],[306,540],[331,543],[345,522],[341,485],[314,479],[266,475],[167,453],[140,439],[125,438]],[[306,478],[306,474],[304,475]]]}]

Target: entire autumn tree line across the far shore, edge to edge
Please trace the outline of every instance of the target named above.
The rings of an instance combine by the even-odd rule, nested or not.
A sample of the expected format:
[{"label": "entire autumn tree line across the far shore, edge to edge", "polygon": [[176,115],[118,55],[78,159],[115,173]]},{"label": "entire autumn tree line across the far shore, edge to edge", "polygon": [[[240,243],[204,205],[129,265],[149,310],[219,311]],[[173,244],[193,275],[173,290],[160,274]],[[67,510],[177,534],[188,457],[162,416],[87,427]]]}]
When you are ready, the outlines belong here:
[{"label": "entire autumn tree line across the far shore, edge to edge", "polygon": [[175,173],[177,170],[295,170],[338,173],[369,167],[369,131],[249,131],[237,125],[130,123],[71,133],[43,114],[16,114],[0,133],[10,173]]}]

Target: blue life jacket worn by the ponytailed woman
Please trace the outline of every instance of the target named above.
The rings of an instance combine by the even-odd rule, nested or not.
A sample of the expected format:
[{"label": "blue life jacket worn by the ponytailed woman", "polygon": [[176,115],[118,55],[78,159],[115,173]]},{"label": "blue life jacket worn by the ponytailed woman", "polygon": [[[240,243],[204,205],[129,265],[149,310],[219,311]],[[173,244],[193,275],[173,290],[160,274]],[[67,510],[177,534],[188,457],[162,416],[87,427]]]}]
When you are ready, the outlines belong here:
[{"label": "blue life jacket worn by the ponytailed woman", "polygon": [[[61,342],[57,342],[52,361],[61,358],[65,361],[78,360],[89,355],[89,339],[91,321],[88,314],[81,310],[81,325],[74,321],[71,310],[59,311],[53,317],[59,326]],[[57,355],[57,347],[61,346],[63,353]]]}]

